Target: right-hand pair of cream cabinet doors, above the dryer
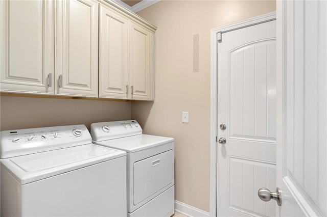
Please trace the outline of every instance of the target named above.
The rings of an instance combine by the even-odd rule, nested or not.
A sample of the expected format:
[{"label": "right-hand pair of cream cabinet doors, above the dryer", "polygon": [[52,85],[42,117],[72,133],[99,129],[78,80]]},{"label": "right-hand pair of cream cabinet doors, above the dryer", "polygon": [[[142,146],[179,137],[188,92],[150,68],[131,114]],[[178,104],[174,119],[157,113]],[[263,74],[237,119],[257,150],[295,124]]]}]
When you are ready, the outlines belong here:
[{"label": "right-hand pair of cream cabinet doors, above the dryer", "polygon": [[100,5],[99,97],[154,99],[154,30]]}]

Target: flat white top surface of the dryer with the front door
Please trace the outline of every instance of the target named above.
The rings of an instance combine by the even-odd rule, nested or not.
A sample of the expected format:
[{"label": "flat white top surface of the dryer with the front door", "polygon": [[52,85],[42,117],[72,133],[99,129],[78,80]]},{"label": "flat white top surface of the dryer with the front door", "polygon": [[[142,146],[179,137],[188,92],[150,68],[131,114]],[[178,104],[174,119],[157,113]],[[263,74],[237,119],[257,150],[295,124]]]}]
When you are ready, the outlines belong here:
[{"label": "flat white top surface of the dryer with the front door", "polygon": [[174,139],[169,137],[158,137],[156,135],[141,134],[101,142],[93,141],[93,143],[104,145],[110,148],[120,149],[126,151],[127,153],[133,153],[173,141]]}]

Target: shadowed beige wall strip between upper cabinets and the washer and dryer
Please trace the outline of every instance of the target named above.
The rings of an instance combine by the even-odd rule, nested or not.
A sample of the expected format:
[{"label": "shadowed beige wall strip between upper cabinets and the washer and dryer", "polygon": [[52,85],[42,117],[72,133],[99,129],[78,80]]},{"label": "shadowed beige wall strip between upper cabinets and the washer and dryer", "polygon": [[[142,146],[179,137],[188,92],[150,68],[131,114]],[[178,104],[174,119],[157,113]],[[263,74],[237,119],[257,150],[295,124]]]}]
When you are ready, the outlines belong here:
[{"label": "shadowed beige wall strip between upper cabinets and the washer and dryer", "polygon": [[130,119],[130,102],[0,97],[0,130]]}]

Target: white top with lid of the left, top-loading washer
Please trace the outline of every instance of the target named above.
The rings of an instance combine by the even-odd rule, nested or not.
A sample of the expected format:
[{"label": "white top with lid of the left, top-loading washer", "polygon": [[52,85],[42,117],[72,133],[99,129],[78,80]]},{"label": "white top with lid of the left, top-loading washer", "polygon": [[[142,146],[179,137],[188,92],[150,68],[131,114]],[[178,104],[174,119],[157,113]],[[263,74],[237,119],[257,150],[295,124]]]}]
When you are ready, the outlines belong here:
[{"label": "white top with lid of the left, top-loading washer", "polygon": [[18,182],[27,184],[125,155],[124,151],[87,144],[12,157],[1,162]]}]

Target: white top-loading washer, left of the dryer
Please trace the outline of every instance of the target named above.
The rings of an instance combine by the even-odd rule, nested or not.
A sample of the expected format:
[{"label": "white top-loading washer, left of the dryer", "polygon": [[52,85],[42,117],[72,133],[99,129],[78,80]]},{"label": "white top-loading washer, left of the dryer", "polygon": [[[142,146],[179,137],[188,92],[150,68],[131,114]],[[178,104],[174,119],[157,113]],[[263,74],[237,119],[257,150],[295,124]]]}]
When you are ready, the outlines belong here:
[{"label": "white top-loading washer, left of the dryer", "polygon": [[126,152],[84,125],[1,132],[1,216],[127,216]]}]

